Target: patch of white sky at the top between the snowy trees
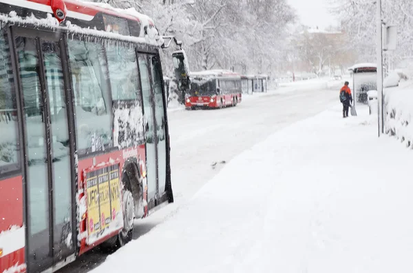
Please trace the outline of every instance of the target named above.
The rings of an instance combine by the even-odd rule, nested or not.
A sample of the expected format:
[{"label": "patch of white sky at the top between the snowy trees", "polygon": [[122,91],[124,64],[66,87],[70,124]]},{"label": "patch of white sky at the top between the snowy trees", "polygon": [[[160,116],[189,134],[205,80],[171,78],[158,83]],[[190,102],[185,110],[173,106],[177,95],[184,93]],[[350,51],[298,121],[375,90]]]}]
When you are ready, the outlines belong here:
[{"label": "patch of white sky at the top between the snowy trees", "polygon": [[337,25],[334,15],[328,12],[328,0],[288,0],[297,11],[301,23],[315,28],[324,29],[330,25]]}]

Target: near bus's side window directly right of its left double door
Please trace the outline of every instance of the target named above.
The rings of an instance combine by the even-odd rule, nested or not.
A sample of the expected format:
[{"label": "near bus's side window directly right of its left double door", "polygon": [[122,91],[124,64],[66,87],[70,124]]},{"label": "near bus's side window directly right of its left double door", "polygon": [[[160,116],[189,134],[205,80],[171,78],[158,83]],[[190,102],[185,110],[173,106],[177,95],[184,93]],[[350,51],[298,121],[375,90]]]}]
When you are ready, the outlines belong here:
[{"label": "near bus's side window directly right of its left double door", "polygon": [[111,101],[103,46],[67,41],[74,92],[76,141],[79,154],[112,146]]}]

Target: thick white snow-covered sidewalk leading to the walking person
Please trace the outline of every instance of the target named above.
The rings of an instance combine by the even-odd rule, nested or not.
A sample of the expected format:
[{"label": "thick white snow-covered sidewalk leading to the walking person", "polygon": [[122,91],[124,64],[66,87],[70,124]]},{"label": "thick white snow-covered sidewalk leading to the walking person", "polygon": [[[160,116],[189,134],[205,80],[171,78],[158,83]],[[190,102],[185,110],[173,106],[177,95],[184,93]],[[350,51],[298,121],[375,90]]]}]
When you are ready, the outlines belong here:
[{"label": "thick white snow-covered sidewalk leading to the walking person", "polygon": [[376,121],[336,107],[273,134],[92,272],[412,272],[413,151]]}]

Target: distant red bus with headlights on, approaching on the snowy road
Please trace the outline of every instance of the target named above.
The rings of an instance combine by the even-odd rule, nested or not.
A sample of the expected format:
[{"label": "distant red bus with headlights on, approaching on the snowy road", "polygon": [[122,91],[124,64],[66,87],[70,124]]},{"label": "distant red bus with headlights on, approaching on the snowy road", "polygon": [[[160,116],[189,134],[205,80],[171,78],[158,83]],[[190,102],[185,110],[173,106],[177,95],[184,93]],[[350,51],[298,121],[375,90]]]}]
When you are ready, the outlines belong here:
[{"label": "distant red bus with headlights on, approaching on the snowy road", "polygon": [[223,108],[242,100],[241,75],[229,70],[190,72],[191,87],[185,108]]}]

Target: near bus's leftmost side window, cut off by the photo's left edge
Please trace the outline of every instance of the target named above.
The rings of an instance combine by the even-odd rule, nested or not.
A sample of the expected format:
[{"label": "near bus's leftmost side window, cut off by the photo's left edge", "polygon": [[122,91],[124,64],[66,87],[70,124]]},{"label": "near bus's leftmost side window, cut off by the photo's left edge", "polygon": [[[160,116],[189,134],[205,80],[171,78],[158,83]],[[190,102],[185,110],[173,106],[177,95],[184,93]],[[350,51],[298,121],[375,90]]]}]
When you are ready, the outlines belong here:
[{"label": "near bus's leftmost side window, cut off by the photo's left edge", "polygon": [[20,168],[15,82],[7,37],[0,29],[0,174]]}]

